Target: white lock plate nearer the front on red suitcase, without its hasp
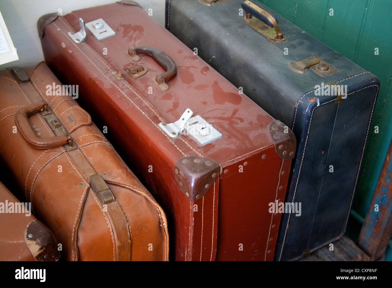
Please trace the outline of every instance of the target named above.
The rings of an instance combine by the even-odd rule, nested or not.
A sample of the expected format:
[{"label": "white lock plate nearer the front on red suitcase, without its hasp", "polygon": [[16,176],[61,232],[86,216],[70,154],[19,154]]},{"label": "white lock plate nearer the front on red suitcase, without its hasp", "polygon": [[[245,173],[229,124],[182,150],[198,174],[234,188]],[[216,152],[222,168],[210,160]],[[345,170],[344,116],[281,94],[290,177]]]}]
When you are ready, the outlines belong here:
[{"label": "white lock plate nearer the front on red suitcase, without its hasp", "polygon": [[201,146],[222,137],[222,134],[212,127],[211,124],[201,118],[200,115],[190,118],[185,124],[184,130],[186,131],[186,134],[191,135],[191,137]]}]

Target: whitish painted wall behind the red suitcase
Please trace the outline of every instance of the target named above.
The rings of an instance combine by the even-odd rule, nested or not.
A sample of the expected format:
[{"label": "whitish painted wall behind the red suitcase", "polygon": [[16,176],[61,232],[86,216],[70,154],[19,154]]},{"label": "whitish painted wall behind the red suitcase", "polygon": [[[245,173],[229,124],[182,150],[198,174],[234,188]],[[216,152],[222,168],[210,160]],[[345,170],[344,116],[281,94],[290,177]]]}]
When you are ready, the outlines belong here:
[{"label": "whitish painted wall behind the red suitcase", "polygon": [[[0,0],[0,11],[19,56],[17,61],[0,65],[0,70],[12,66],[34,66],[44,60],[37,32],[37,21],[42,15],[57,12],[59,8],[65,15],[73,10],[114,2],[116,0]],[[152,8],[152,17],[165,25],[165,0],[136,2],[145,11]]]}]

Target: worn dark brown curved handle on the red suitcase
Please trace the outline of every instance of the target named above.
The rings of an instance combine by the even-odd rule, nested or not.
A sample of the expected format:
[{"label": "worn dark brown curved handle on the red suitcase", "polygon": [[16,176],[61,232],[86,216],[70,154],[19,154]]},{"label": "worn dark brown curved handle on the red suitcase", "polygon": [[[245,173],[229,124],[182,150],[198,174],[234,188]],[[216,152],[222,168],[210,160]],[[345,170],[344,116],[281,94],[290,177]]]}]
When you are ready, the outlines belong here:
[{"label": "worn dark brown curved handle on the red suitcase", "polygon": [[173,59],[162,50],[151,46],[130,47],[128,49],[128,55],[132,61],[140,61],[138,54],[146,54],[151,56],[156,60],[156,62],[160,63],[163,68],[166,69],[165,73],[159,74],[158,76],[152,78],[152,81],[162,91],[169,89],[169,86],[166,84],[166,82],[177,74],[176,63],[174,63]]}]

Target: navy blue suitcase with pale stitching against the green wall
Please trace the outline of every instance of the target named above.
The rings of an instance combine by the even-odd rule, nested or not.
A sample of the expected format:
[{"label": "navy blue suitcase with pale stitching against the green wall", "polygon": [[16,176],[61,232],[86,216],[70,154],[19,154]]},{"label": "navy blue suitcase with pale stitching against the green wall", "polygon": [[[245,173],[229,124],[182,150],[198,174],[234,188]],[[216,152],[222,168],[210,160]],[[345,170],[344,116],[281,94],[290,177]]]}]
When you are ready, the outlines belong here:
[{"label": "navy blue suitcase with pale stitching against the green wall", "polygon": [[283,215],[275,259],[298,259],[341,237],[377,77],[259,2],[167,0],[166,27],[274,118],[291,123],[297,151],[285,205],[301,203],[301,216]]}]

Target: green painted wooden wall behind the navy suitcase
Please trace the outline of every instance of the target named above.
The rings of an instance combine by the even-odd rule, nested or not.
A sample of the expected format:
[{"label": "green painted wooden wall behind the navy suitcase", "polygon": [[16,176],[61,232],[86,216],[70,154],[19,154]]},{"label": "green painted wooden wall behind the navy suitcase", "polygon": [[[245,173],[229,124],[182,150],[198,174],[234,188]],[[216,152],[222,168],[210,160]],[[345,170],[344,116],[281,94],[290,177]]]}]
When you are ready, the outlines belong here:
[{"label": "green painted wooden wall behind the navy suitcase", "polygon": [[[376,75],[380,91],[359,174],[348,231],[359,230],[392,138],[392,1],[260,0],[352,62]],[[333,9],[333,16],[330,16]],[[285,33],[282,29],[283,34]],[[375,49],[378,48],[378,55]],[[375,133],[378,126],[379,133]],[[356,232],[356,233],[355,233]],[[358,235],[358,231],[351,233]],[[350,235],[351,236],[351,235]],[[355,236],[353,236],[355,238]],[[355,239],[356,240],[356,239]],[[390,241],[392,243],[392,241]],[[392,260],[389,245],[387,258]]]}]

